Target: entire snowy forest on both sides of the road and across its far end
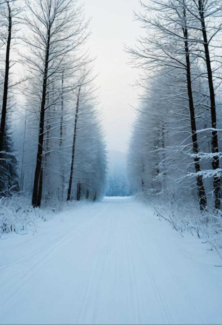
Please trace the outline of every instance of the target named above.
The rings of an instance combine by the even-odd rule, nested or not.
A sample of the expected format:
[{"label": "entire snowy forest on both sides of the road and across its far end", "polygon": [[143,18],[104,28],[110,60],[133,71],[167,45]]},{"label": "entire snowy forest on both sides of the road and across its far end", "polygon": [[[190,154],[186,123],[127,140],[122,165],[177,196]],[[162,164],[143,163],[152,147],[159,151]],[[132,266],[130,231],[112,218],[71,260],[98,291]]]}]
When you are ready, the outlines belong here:
[{"label": "entire snowy forest on both sides of the road and across its far end", "polygon": [[141,9],[143,34],[124,47],[138,70],[135,121],[127,163],[111,175],[83,5],[1,4],[2,233],[26,229],[36,207],[134,194],[179,232],[222,248],[220,1]]}]

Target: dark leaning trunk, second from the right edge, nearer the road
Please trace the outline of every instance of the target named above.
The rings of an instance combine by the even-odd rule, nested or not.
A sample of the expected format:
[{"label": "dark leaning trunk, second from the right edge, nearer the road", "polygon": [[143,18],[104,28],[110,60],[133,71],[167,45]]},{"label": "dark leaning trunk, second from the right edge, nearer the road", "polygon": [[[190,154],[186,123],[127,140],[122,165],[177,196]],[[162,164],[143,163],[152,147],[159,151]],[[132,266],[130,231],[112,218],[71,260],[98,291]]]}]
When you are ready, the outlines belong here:
[{"label": "dark leaning trunk, second from the right edge, nearer the road", "polygon": [[[184,8],[183,16],[186,19],[186,11]],[[186,53],[186,76],[187,76],[187,91],[188,91],[188,98],[189,98],[189,107],[190,107],[190,116],[191,116],[191,134],[192,134],[192,144],[193,144],[193,153],[194,157],[194,167],[196,173],[200,172],[200,162],[198,154],[198,143],[197,143],[197,129],[196,129],[196,120],[195,120],[195,113],[194,113],[194,105],[193,105],[193,94],[192,94],[192,86],[191,86],[191,64],[190,64],[190,51],[188,46],[188,30],[185,21],[185,27],[183,28],[183,34],[186,41],[184,42],[185,45],[185,53]],[[204,211],[207,207],[207,198],[205,194],[205,189],[203,185],[203,176],[198,175],[196,177],[197,180],[197,189],[198,189],[198,197],[199,197],[199,205],[200,211]]]}]

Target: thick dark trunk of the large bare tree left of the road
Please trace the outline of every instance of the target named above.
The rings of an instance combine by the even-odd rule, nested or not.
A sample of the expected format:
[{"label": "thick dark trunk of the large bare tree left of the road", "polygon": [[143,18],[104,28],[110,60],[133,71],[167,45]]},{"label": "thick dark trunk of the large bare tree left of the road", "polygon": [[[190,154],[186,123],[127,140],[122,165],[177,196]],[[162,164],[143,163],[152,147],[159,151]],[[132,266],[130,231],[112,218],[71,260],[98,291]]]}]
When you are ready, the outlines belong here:
[{"label": "thick dark trunk of the large bare tree left of the road", "polygon": [[[50,25],[50,21],[49,21]],[[42,90],[42,102],[40,111],[40,121],[39,121],[39,139],[38,139],[38,151],[36,159],[36,168],[33,184],[33,194],[32,194],[32,206],[38,207],[41,205],[42,198],[42,186],[39,192],[39,186],[41,185],[40,174],[43,173],[42,169],[42,159],[43,159],[43,138],[44,138],[44,115],[45,115],[45,98],[46,98],[46,87],[47,87],[47,77],[48,77],[48,63],[49,63],[49,47],[50,47],[50,27],[48,28],[47,36],[47,48],[45,55],[45,68],[44,68],[44,78],[43,78],[43,90]],[[42,178],[42,176],[41,176]],[[41,197],[40,197],[41,195]]]}]

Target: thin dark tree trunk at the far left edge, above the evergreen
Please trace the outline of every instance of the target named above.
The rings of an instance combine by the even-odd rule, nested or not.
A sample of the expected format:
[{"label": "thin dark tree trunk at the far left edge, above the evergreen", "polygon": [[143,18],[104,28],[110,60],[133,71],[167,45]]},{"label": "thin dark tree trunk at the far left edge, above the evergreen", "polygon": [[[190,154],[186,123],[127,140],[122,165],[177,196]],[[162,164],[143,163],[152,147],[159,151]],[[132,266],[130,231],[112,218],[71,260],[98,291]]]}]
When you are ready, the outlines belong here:
[{"label": "thin dark tree trunk at the far left edge, above the evergreen", "polygon": [[7,97],[8,97],[8,75],[9,75],[9,54],[10,54],[10,44],[11,44],[11,30],[12,30],[12,17],[11,8],[9,2],[7,1],[8,7],[8,38],[6,45],[6,60],[5,60],[5,80],[4,80],[4,90],[3,90],[3,100],[2,100],[2,116],[0,124],[0,152],[3,150],[4,133],[6,126],[6,108],[7,108]]}]

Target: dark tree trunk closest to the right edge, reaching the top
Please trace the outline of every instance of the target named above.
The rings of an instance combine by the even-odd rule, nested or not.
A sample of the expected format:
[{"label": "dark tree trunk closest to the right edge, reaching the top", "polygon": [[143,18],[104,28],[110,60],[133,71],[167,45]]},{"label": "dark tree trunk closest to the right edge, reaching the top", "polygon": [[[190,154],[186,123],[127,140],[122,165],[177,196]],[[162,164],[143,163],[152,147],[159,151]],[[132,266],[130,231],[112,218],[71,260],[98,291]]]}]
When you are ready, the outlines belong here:
[{"label": "dark tree trunk closest to the right edge, reaching the top", "polygon": [[[218,153],[218,139],[217,139],[217,125],[216,125],[216,103],[215,103],[215,93],[214,93],[214,83],[213,83],[213,76],[212,76],[212,69],[211,69],[211,59],[209,53],[209,45],[207,40],[207,32],[205,28],[205,21],[203,16],[203,0],[198,0],[199,5],[199,15],[201,19],[201,26],[202,26],[202,34],[203,34],[203,46],[205,52],[205,60],[206,60],[206,67],[207,67],[207,77],[208,77],[208,84],[209,84],[209,93],[210,93],[210,110],[211,110],[211,125],[212,125],[212,140],[211,140],[211,151],[212,153]],[[216,170],[219,168],[219,157],[215,155],[212,161],[212,168]],[[213,176],[213,183],[214,183],[214,204],[215,209],[220,209],[220,199],[219,199],[219,192],[220,192],[220,176],[216,174]]]}]

